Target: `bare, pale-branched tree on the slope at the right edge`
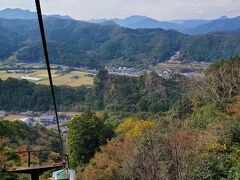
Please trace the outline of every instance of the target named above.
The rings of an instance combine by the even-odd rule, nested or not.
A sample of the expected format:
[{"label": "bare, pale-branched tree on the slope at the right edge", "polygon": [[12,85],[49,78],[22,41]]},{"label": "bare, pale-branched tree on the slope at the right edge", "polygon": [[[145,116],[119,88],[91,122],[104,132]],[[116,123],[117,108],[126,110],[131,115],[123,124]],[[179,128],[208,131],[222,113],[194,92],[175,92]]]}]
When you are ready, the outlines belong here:
[{"label": "bare, pale-branched tree on the slope at the right edge", "polygon": [[193,93],[203,99],[223,104],[240,91],[240,58],[220,61],[211,65],[205,76],[197,78]]}]

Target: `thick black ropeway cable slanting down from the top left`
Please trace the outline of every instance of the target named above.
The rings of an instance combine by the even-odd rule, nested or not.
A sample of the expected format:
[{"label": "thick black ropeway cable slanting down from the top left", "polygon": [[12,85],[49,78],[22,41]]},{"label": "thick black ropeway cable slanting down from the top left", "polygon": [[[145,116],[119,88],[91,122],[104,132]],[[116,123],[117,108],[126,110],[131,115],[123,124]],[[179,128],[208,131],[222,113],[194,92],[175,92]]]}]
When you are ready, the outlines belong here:
[{"label": "thick black ropeway cable slanting down from the top left", "polygon": [[63,154],[64,153],[63,152],[63,140],[62,140],[61,129],[60,129],[60,125],[59,125],[57,104],[56,104],[54,88],[53,88],[52,74],[51,74],[51,68],[50,68],[49,57],[48,57],[48,48],[47,48],[45,30],[44,30],[44,25],[43,25],[41,5],[40,5],[39,0],[35,0],[35,3],[36,3],[36,8],[37,8],[37,15],[38,15],[40,33],[41,33],[41,37],[42,37],[42,45],[43,45],[45,60],[46,60],[46,64],[47,64],[48,78],[49,78],[49,83],[50,83],[50,87],[51,87],[54,111],[55,111],[55,116],[56,116],[56,121],[57,121],[58,135],[59,135],[60,146],[61,146],[60,147],[60,153],[61,153],[61,157],[63,157],[64,156],[64,154]]}]

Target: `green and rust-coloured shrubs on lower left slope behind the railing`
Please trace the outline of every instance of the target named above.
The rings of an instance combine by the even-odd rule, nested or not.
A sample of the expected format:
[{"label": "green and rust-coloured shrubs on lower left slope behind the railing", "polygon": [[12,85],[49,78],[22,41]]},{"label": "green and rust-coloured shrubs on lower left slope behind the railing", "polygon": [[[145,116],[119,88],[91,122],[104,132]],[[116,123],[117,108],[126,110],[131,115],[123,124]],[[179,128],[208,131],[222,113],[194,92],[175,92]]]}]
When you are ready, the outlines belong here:
[{"label": "green and rust-coloured shrubs on lower left slope behind the railing", "polygon": [[[31,135],[30,135],[31,134]],[[41,163],[54,163],[59,158],[60,143],[57,131],[47,129],[37,124],[34,127],[27,126],[22,121],[0,121],[0,166],[3,167],[26,167],[28,150],[48,150],[31,153],[31,165]],[[22,153],[18,153],[22,151]],[[29,175],[6,174],[0,172],[1,180],[29,179]]]}]

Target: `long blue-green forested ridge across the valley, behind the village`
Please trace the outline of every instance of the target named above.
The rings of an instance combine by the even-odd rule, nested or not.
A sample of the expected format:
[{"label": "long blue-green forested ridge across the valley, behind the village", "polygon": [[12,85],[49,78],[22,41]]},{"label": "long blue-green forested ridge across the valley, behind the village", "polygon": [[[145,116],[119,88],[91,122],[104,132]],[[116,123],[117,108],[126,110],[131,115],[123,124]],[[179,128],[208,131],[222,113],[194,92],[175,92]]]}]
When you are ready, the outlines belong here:
[{"label": "long blue-green forested ridge across the valley, behind the village", "polygon": [[[162,29],[133,30],[58,18],[45,18],[45,27],[51,62],[69,66],[143,66],[168,60],[176,51],[184,60],[195,61],[240,54],[240,36],[230,32],[188,36]],[[20,61],[42,61],[37,21],[0,19],[0,49],[0,59],[17,52]]]}]

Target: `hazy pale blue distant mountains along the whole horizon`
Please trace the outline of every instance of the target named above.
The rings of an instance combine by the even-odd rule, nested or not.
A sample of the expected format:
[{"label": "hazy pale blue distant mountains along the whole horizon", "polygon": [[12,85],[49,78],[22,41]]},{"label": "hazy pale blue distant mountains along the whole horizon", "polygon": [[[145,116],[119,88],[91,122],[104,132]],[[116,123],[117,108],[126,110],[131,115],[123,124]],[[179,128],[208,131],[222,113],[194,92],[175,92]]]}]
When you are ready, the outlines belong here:
[{"label": "hazy pale blue distant mountains along the whole horizon", "polygon": [[[50,15],[51,17],[72,19],[70,16]],[[48,16],[49,17],[49,16]],[[4,9],[0,11],[0,18],[5,19],[36,19],[36,13],[21,9]],[[176,30],[185,34],[205,34],[208,32],[224,32],[240,29],[240,17],[228,18],[222,16],[214,20],[205,19],[182,19],[172,21],[160,21],[146,16],[130,16],[125,19],[91,19],[88,22],[102,25],[119,25],[132,29],[139,28],[162,28]]]}]

